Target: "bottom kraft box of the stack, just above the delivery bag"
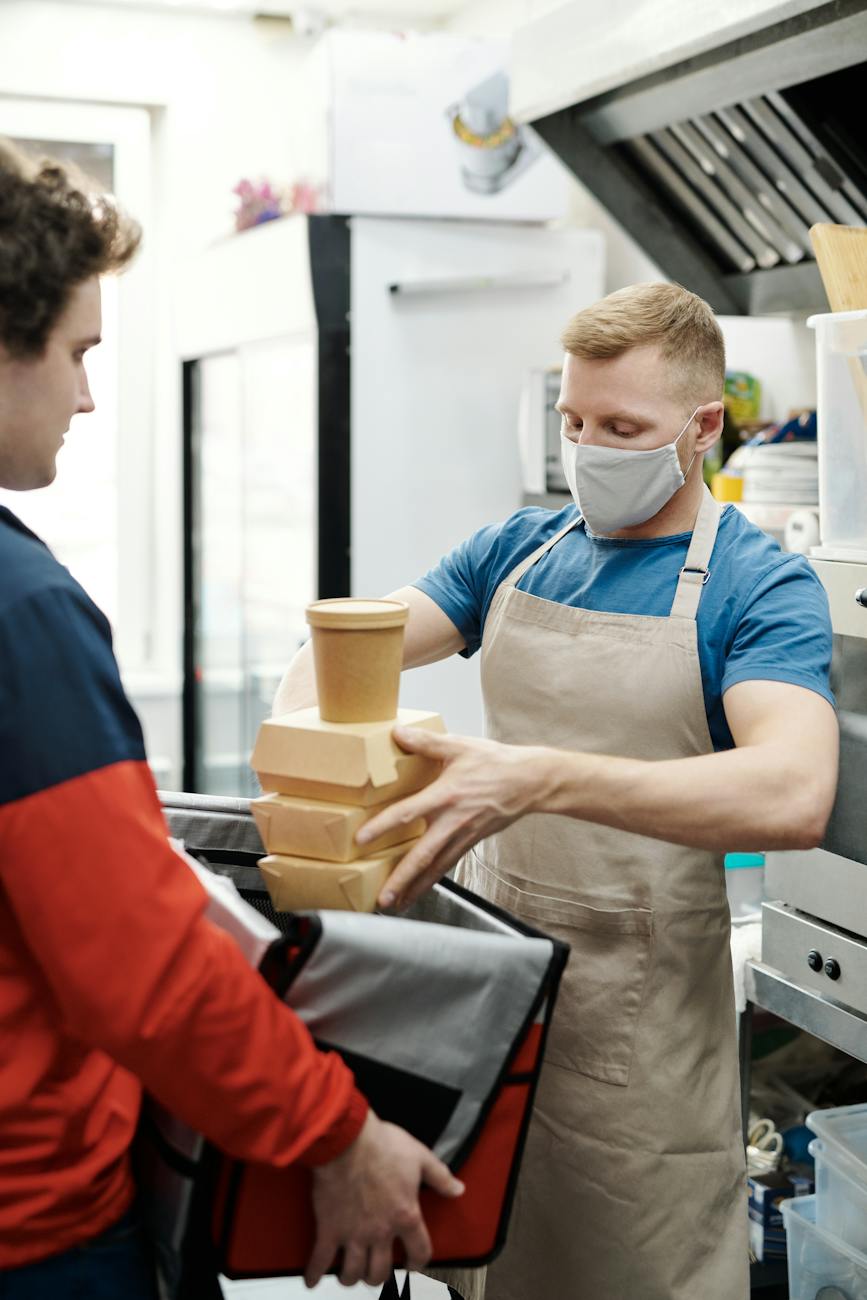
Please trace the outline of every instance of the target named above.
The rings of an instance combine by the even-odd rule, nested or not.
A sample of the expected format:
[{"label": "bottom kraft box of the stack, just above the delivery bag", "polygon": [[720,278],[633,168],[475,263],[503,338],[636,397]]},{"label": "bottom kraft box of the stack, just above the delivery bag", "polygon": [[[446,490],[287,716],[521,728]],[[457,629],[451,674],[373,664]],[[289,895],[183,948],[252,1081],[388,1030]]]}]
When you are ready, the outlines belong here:
[{"label": "bottom kraft box of the stack, just above the delivery bag", "polygon": [[355,862],[269,854],[259,862],[274,911],[373,911],[382,885],[413,841]]}]

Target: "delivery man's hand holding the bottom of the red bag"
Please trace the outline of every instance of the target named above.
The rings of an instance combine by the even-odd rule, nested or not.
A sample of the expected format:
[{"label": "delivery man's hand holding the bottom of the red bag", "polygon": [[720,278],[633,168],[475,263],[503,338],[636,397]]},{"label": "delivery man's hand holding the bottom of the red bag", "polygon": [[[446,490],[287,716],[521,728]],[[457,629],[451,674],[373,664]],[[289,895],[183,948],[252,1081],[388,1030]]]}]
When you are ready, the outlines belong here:
[{"label": "delivery man's hand holding the bottom of the red bag", "polygon": [[464,1184],[420,1141],[370,1110],[351,1147],[313,1170],[316,1244],[304,1280],[315,1287],[343,1252],[341,1282],[382,1286],[399,1239],[408,1269],[430,1258],[430,1238],[419,1206],[422,1183],[441,1196],[460,1196]]}]

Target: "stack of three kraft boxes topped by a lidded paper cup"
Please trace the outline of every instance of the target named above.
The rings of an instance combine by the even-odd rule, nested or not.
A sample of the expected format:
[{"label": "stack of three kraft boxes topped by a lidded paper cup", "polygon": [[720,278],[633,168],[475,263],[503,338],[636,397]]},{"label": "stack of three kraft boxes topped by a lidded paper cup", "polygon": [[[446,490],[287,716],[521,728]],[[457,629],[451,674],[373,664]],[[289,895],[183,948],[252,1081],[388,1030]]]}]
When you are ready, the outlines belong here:
[{"label": "stack of three kraft boxes topped by a lidded paper cup", "polygon": [[251,805],[268,850],[259,867],[276,911],[373,911],[425,828],[409,822],[364,849],[355,840],[383,807],[439,774],[438,762],[404,754],[391,738],[396,723],[445,731],[438,714],[398,710],[408,614],[400,601],[308,607],[320,705],[264,722],[252,757],[266,792]]}]

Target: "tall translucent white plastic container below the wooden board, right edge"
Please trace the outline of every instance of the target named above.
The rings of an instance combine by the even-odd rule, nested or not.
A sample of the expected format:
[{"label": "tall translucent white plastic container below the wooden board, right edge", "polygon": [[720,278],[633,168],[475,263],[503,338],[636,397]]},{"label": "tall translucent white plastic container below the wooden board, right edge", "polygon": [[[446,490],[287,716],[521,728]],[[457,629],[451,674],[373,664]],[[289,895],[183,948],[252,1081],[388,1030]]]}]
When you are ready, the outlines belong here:
[{"label": "tall translucent white plastic container below the wooden board, right edge", "polygon": [[822,537],[812,554],[867,560],[867,311],[807,325],[816,332]]}]

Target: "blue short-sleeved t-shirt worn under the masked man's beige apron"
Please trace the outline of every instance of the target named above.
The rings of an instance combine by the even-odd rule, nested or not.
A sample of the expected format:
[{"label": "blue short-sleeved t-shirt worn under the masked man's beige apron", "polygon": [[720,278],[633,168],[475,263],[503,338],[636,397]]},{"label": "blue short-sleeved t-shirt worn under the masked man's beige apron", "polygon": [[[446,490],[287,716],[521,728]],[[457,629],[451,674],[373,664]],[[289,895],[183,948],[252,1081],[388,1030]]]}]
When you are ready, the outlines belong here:
[{"label": "blue short-sleeved t-shirt worn under the masked man's beige apron", "polygon": [[[525,556],[575,519],[530,506],[480,528],[415,586],[451,619],[474,654],[494,592]],[[690,533],[641,541],[597,537],[578,524],[517,584],[558,604],[606,614],[666,616]],[[824,588],[801,555],[790,555],[734,506],[720,516],[710,578],[698,606],[698,655],[714,748],[732,749],[723,696],[738,681],[788,681],[833,705],[828,684],[831,615]]]}]

